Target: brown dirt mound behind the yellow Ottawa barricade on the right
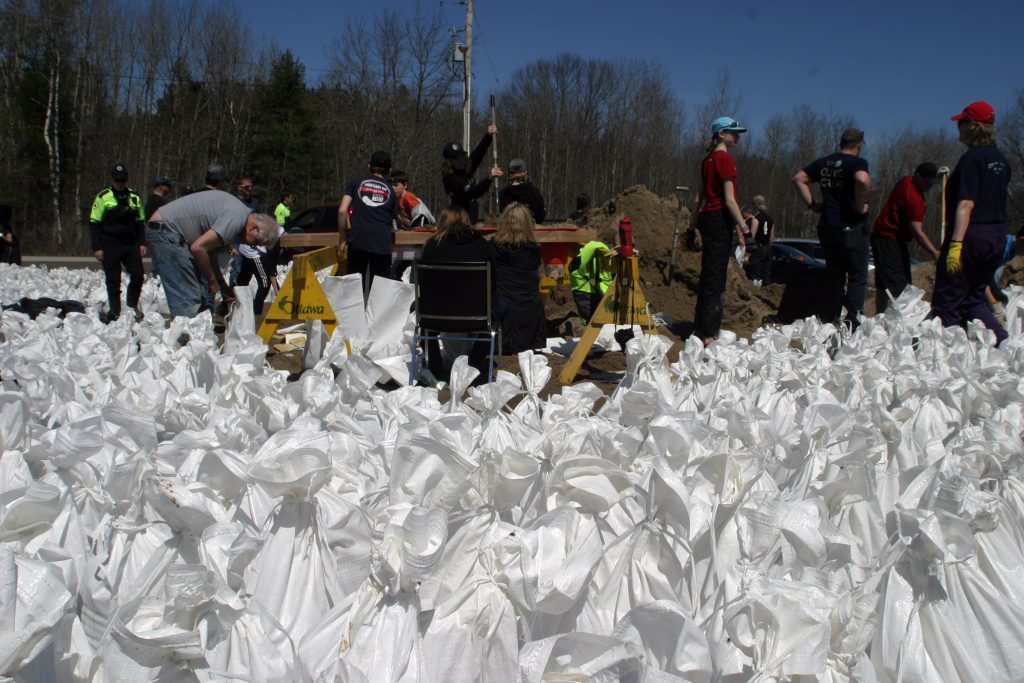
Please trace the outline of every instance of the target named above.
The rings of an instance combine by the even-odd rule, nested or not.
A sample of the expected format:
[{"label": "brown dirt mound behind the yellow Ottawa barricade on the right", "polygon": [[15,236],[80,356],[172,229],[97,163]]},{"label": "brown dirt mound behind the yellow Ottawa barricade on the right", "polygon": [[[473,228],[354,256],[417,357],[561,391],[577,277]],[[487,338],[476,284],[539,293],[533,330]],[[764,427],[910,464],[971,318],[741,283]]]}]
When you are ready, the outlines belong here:
[{"label": "brown dirt mound behind the yellow Ottawa barricade on the right", "polygon": [[[700,278],[700,252],[686,249],[683,234],[689,228],[690,212],[684,207],[680,215],[680,236],[672,283],[667,283],[672,238],[676,230],[677,197],[658,197],[643,185],[623,190],[602,206],[592,209],[586,217],[588,227],[618,226],[625,215],[633,223],[633,241],[640,254],[640,276],[644,294],[653,310],[666,312],[676,321],[673,331],[688,334],[696,306],[697,281]],[[750,337],[765,315],[778,310],[782,286],[755,287],[735,261],[729,262],[722,328],[740,337]],[[556,290],[548,302],[548,319],[552,333],[564,333],[564,325],[575,309],[571,293]]]}]

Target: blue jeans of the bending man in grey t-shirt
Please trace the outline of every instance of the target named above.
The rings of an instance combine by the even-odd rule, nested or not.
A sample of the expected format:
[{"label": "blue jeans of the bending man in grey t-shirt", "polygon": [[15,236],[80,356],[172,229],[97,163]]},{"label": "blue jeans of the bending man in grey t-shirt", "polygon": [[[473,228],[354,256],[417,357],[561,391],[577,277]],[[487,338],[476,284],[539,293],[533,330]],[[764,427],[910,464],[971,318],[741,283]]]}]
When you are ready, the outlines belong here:
[{"label": "blue jeans of the bending man in grey t-shirt", "polygon": [[174,228],[153,222],[145,225],[145,241],[155,269],[160,272],[171,316],[195,317],[204,305],[206,279],[196,268],[188,243]]}]

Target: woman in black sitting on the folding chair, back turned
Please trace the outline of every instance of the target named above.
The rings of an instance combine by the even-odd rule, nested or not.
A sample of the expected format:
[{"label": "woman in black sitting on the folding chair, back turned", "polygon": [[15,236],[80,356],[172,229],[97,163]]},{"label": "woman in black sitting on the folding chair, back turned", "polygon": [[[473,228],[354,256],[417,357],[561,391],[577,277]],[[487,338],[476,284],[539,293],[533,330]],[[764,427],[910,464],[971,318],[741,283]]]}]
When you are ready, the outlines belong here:
[{"label": "woman in black sitting on the folding chair, back turned", "polygon": [[[490,264],[492,282],[495,272],[495,245],[474,230],[469,224],[469,215],[459,206],[450,206],[437,217],[437,232],[423,245],[420,255],[422,263],[466,263],[484,262]],[[452,296],[459,296],[452,292]],[[444,344],[443,367],[439,364],[435,342],[430,343],[430,372],[438,378],[446,379],[456,357],[469,355],[469,365],[480,371],[474,384],[482,384],[487,379],[487,344],[480,342],[451,341]]]}]

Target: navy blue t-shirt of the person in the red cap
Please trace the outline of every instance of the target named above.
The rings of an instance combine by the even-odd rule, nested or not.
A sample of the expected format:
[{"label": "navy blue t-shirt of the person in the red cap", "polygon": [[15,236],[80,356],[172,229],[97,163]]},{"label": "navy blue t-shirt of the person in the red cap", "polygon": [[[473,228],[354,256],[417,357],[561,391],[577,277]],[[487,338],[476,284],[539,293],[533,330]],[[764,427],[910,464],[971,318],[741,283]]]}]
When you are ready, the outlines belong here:
[{"label": "navy blue t-shirt of the person in the red cap", "polygon": [[964,153],[946,182],[946,222],[956,220],[961,200],[973,200],[972,223],[1007,222],[1010,162],[994,144],[978,144]]}]

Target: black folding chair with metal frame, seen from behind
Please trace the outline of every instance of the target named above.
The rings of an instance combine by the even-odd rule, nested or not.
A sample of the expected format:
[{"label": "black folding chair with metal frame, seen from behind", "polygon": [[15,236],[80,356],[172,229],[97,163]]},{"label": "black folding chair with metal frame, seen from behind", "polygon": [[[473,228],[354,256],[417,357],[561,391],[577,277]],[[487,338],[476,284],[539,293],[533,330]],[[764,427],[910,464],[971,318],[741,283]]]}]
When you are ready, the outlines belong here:
[{"label": "black folding chair with metal frame, seen from behind", "polygon": [[489,382],[495,374],[495,340],[501,334],[498,323],[492,318],[490,264],[482,261],[416,261],[413,282],[416,284],[416,329],[413,332],[413,366],[409,383],[413,384],[416,380],[416,359],[421,341],[482,342],[479,335],[484,334],[490,335]]}]

